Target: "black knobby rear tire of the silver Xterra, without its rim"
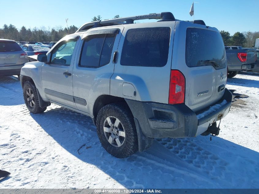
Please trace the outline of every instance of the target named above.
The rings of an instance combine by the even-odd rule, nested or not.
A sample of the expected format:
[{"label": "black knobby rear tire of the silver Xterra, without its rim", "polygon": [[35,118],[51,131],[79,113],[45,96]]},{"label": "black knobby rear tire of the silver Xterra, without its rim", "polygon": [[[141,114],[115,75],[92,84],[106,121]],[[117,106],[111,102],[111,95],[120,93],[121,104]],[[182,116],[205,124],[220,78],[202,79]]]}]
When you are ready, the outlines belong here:
[{"label": "black knobby rear tire of the silver Xterra, without its rim", "polygon": [[[120,147],[112,146],[105,137],[104,123],[107,117],[120,120],[125,131],[125,140]],[[97,135],[104,149],[117,158],[127,158],[138,150],[138,135],[133,115],[124,103],[112,103],[100,109],[96,119]]]}]

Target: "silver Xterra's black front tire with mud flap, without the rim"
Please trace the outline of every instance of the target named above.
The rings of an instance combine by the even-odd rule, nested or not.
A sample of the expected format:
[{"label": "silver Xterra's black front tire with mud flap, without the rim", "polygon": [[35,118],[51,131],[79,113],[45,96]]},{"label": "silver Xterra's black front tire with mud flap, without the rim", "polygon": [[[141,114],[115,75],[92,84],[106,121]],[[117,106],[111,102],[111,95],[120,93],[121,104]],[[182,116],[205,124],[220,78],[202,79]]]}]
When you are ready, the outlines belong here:
[{"label": "silver Xterra's black front tire with mud flap, without the rim", "polygon": [[[27,101],[27,89],[31,89],[32,90],[32,93],[33,93],[33,96],[34,96],[34,106],[31,107],[29,105],[29,102]],[[25,101],[25,105],[27,106],[28,110],[30,112],[32,112],[33,114],[38,114],[38,113],[41,113],[41,112],[44,112],[47,107],[40,107],[39,105],[39,98],[38,98],[38,94],[37,94],[37,90],[36,90],[36,86],[29,82],[29,81],[26,81],[23,85],[23,98],[24,98],[24,101]]]}]

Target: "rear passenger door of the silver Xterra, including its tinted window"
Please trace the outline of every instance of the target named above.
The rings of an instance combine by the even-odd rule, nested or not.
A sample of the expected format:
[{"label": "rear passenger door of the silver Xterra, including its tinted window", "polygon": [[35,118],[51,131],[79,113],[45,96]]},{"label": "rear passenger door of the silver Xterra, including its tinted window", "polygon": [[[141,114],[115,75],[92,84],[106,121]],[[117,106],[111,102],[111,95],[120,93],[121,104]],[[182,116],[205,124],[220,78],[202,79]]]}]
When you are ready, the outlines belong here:
[{"label": "rear passenger door of the silver Xterra, including its tinted window", "polygon": [[112,58],[123,29],[123,26],[92,29],[82,36],[81,52],[78,51],[73,69],[74,100],[78,110],[90,113],[97,97],[110,94]]}]

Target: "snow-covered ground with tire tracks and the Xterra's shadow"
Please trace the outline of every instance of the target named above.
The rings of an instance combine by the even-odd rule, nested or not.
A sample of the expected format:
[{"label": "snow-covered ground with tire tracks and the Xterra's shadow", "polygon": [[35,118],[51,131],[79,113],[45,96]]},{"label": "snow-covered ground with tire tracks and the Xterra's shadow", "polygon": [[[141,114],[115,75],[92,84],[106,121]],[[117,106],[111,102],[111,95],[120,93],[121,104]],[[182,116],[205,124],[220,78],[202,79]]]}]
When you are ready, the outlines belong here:
[{"label": "snow-covered ground with tire tracks and the Xterra's shadow", "polygon": [[[27,110],[20,82],[0,77],[0,188],[259,188],[259,76],[237,75],[220,134],[160,139],[127,159],[108,154],[91,119],[57,105]],[[78,149],[83,145],[78,153]]]}]

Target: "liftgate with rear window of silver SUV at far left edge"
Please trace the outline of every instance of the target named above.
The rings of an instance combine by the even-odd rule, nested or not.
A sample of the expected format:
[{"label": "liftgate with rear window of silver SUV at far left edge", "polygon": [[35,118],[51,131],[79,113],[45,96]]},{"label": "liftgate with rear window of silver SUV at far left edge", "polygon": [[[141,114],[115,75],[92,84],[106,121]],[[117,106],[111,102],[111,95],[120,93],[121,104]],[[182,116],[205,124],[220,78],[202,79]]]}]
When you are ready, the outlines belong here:
[{"label": "liftgate with rear window of silver SUV at far left edge", "polygon": [[0,66],[23,64],[24,58],[20,58],[21,53],[23,51],[16,42],[0,40]]}]

